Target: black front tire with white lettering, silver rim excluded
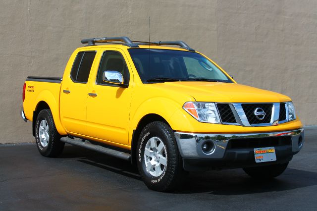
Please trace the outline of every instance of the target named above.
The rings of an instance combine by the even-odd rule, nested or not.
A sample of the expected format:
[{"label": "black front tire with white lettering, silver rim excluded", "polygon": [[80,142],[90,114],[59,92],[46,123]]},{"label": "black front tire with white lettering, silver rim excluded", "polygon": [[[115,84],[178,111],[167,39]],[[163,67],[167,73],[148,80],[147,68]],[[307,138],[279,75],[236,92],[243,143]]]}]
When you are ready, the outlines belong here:
[{"label": "black front tire with white lettering, silver rim excluded", "polygon": [[[165,145],[166,165],[162,174],[153,176],[146,169],[144,151],[148,141],[158,137]],[[165,123],[160,121],[151,122],[142,130],[137,145],[137,166],[146,186],[155,191],[171,191],[180,182],[183,175],[182,158],[178,152],[174,132]]]}]

